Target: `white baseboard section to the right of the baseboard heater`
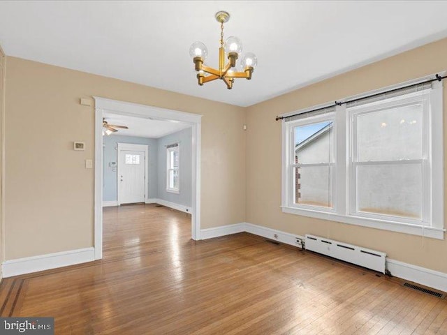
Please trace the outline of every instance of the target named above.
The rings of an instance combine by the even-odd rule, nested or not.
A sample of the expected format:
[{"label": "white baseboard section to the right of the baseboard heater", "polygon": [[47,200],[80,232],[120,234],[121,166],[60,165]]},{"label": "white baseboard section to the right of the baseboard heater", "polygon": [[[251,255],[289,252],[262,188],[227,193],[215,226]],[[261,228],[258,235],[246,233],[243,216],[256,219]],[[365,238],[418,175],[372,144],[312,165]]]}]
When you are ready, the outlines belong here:
[{"label": "white baseboard section to the right of the baseboard heater", "polygon": [[447,292],[447,274],[399,260],[386,260],[386,268],[395,277]]}]

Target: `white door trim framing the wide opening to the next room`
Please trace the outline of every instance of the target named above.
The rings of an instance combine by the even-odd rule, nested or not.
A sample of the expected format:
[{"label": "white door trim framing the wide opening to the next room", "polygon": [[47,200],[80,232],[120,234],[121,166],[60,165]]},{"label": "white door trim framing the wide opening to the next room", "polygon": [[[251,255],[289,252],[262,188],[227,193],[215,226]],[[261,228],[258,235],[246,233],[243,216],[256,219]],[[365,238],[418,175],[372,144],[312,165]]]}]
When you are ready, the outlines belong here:
[{"label": "white door trim framing the wide opening to the next room", "polygon": [[191,237],[200,239],[200,144],[201,118],[200,114],[167,110],[160,107],[139,105],[115,101],[94,96],[95,100],[95,197],[94,197],[94,247],[95,259],[103,258],[103,112],[129,115],[133,117],[152,117],[159,120],[183,121],[192,127],[192,211]]}]

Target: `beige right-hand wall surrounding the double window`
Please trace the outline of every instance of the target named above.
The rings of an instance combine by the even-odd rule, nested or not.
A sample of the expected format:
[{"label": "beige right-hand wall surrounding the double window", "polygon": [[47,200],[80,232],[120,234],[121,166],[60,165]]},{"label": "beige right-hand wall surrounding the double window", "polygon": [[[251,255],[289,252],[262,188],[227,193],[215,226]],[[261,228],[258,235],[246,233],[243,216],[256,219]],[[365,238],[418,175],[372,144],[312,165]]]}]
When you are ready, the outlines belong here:
[{"label": "beige right-hand wall surrounding the double window", "polygon": [[[447,273],[447,241],[284,214],[281,122],[274,117],[447,70],[447,39],[298,89],[247,109],[247,222],[293,234],[316,234],[385,251],[389,258]],[[447,83],[444,82],[444,110]],[[444,116],[444,129],[447,117]],[[447,149],[447,131],[444,149]],[[447,159],[447,154],[444,154]],[[447,180],[447,178],[446,178]]]}]

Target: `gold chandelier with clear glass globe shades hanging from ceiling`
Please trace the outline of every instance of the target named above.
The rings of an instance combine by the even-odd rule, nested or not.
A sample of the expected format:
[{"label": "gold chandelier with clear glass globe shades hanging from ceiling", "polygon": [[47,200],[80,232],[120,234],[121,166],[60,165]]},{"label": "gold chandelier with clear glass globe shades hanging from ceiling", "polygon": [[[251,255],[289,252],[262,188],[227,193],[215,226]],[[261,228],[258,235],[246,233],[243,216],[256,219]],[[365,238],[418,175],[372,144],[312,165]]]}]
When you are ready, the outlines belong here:
[{"label": "gold chandelier with clear glass globe shades hanging from ceiling", "polygon": [[[235,36],[227,38],[223,43],[223,24],[230,20],[230,14],[224,11],[217,12],[217,22],[221,23],[221,46],[219,47],[219,69],[210,68],[203,64],[207,58],[208,50],[205,44],[202,42],[194,42],[189,48],[189,54],[191,55],[195,68],[197,71],[197,80],[200,86],[203,86],[205,82],[212,82],[216,79],[221,79],[225,82],[228,89],[233,88],[233,82],[235,78],[245,78],[251,80],[251,73],[258,63],[256,56],[253,52],[247,52],[241,57],[240,65],[242,72],[238,72],[236,69],[236,61],[242,52],[242,42]],[[226,63],[228,59],[228,63]]]}]

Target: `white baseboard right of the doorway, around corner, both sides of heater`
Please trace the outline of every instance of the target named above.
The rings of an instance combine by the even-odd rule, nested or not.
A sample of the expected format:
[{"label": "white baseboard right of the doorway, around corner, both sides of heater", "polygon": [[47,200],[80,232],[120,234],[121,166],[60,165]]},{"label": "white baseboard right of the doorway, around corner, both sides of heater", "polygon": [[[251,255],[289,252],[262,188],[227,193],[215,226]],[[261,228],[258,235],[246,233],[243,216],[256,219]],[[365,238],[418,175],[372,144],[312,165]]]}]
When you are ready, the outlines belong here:
[{"label": "white baseboard right of the doorway, around corner, both sides of heater", "polygon": [[[245,222],[200,230],[200,239],[212,239],[214,237],[236,234],[237,232],[249,232],[250,234],[262,236],[284,244],[290,244],[291,246],[297,246],[298,248],[300,248],[300,244],[296,243],[296,239],[305,239],[305,237],[300,235]],[[386,259],[386,269],[397,278],[413,281],[414,283],[425,285],[429,288],[447,292],[447,274],[444,274],[443,272],[434,271],[425,267],[418,267],[390,258]]]}]

